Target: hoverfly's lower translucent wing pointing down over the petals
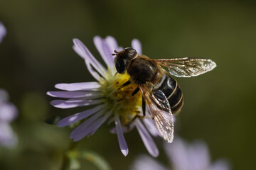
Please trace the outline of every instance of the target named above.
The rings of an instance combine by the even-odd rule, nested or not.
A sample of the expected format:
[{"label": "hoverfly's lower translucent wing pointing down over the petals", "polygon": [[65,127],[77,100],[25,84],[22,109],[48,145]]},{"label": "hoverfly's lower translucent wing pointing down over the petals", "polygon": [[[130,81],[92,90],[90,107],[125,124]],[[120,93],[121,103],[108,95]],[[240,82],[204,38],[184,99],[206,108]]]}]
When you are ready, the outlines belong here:
[{"label": "hoverfly's lower translucent wing pointing down over the petals", "polygon": [[174,118],[166,96],[162,91],[151,94],[145,84],[140,85],[139,88],[159,134],[171,143],[174,140]]}]

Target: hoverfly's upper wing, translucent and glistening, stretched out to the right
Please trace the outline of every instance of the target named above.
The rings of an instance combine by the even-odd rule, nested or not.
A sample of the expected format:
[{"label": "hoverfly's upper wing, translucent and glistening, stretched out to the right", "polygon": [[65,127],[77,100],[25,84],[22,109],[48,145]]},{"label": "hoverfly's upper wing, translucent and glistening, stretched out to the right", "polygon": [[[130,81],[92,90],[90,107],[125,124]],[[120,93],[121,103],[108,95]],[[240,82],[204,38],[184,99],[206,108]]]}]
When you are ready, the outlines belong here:
[{"label": "hoverfly's upper wing, translucent and glistening, stretched out to the right", "polygon": [[155,61],[161,66],[167,67],[169,73],[175,77],[196,77],[216,67],[215,62],[212,60],[196,57],[159,59]]}]

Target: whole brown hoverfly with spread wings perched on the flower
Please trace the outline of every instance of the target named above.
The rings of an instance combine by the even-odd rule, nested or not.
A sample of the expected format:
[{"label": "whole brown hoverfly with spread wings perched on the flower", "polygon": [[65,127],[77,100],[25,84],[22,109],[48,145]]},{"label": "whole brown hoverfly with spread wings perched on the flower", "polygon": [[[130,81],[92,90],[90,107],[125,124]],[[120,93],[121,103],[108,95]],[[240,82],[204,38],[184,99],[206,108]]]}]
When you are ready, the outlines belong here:
[{"label": "whole brown hoverfly with spread wings perched on the flower", "polygon": [[[142,110],[145,115],[147,108],[151,118],[156,123],[161,137],[167,142],[174,139],[174,118],[183,106],[183,94],[174,77],[196,77],[209,72],[216,67],[215,62],[198,57],[172,58],[151,60],[145,55],[138,54],[132,47],[122,51],[114,50],[115,67],[119,74],[127,72],[129,81],[120,88],[130,83],[137,84],[137,89],[142,92]],[[169,69],[167,72],[164,68]]]}]

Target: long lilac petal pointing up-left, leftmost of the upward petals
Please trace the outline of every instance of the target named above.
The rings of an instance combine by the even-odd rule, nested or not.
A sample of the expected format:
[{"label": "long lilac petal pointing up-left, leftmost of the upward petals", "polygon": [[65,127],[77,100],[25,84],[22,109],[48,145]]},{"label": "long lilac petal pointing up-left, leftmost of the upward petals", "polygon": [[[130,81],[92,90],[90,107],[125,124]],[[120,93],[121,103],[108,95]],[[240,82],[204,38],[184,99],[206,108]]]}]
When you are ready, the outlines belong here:
[{"label": "long lilac petal pointing up-left, leftmost of the upward petals", "polygon": [[98,62],[95,57],[93,57],[93,55],[90,53],[90,51],[87,49],[87,47],[77,38],[73,39],[74,42],[74,50],[75,52],[78,53],[78,55],[80,55],[81,57],[83,57],[85,60],[87,60],[88,62],[90,62],[90,64],[92,64],[92,67],[94,67],[97,72],[99,72],[102,77],[107,77],[106,74],[106,69],[102,66],[102,64],[100,64],[100,62]]}]

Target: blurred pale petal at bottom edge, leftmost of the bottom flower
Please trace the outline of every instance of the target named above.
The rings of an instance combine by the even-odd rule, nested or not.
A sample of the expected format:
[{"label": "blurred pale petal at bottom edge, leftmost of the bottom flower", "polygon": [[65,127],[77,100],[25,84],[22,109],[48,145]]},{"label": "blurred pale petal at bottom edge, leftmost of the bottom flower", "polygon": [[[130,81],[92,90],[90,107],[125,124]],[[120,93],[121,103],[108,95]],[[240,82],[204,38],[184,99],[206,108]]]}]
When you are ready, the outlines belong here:
[{"label": "blurred pale petal at bottom edge, leftmost of the bottom flower", "polygon": [[163,165],[159,164],[159,162],[156,162],[155,159],[152,159],[151,157],[148,157],[146,155],[141,155],[136,159],[136,161],[131,167],[131,170],[168,170],[168,169]]}]

